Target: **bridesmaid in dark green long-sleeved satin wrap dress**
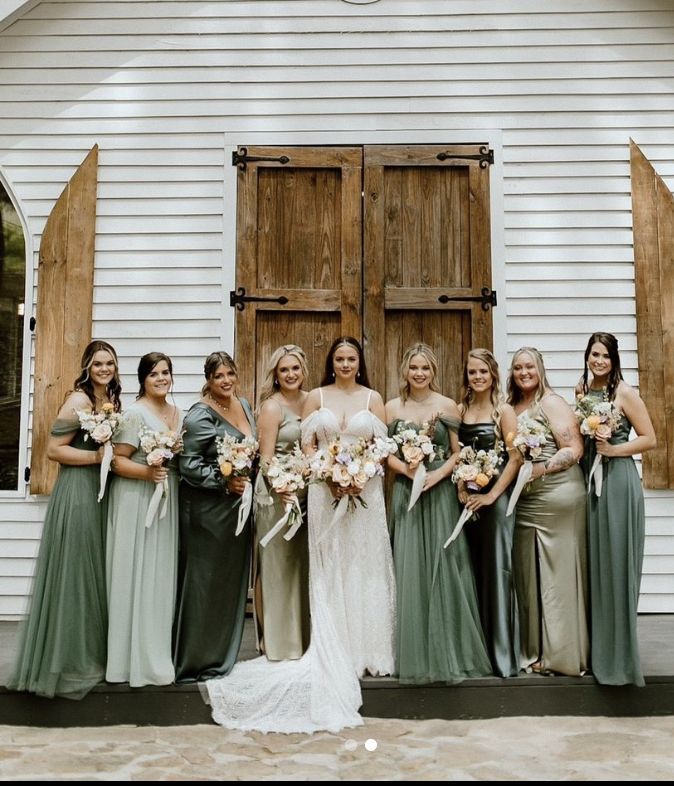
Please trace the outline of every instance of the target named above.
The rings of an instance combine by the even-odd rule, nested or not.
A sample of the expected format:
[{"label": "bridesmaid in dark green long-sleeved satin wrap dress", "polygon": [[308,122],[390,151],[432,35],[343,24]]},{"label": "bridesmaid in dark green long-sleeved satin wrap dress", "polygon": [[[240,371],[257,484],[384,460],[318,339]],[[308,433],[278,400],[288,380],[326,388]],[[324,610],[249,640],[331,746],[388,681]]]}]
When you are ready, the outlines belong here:
[{"label": "bridesmaid in dark green long-sleeved satin wrap dress", "polygon": [[251,530],[236,536],[248,478],[220,473],[216,438],[255,436],[248,402],[236,393],[237,369],[226,352],[204,364],[201,399],[185,416],[180,462],[180,563],[173,630],[176,682],[228,674],[234,665],[248,598]]}]

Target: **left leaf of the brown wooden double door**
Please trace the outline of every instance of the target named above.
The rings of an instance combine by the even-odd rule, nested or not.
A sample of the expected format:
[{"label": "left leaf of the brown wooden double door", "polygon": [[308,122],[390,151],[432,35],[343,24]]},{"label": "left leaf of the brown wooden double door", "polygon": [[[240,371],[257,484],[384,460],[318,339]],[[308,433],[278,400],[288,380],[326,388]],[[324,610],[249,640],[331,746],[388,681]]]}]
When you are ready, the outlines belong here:
[{"label": "left leaf of the brown wooden double door", "polygon": [[332,341],[361,336],[362,151],[249,147],[239,162],[234,295],[268,298],[237,307],[241,391],[255,395],[288,343],[305,350],[316,386]]}]

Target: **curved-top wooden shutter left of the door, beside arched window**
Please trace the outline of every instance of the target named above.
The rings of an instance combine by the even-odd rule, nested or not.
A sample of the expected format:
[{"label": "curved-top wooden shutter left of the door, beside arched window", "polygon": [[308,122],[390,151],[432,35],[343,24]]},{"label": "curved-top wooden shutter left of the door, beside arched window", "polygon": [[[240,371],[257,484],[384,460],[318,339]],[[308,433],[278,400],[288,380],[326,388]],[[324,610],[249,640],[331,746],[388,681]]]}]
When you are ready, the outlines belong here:
[{"label": "curved-top wooden shutter left of the door, beside arched window", "polygon": [[98,145],[58,198],[40,242],[30,491],[49,494],[58,465],[47,458],[51,424],[91,340]]}]

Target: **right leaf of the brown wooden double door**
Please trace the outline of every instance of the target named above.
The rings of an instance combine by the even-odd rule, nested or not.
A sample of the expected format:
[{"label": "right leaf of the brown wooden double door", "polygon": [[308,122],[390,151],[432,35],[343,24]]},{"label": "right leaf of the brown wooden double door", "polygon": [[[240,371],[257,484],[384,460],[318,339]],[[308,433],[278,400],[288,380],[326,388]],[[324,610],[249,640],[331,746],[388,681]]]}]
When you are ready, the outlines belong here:
[{"label": "right leaf of the brown wooden double door", "polygon": [[404,350],[424,341],[438,355],[443,393],[456,398],[466,352],[492,347],[491,306],[479,302],[483,289],[491,294],[488,148],[367,146],[364,160],[372,384],[396,396]]}]

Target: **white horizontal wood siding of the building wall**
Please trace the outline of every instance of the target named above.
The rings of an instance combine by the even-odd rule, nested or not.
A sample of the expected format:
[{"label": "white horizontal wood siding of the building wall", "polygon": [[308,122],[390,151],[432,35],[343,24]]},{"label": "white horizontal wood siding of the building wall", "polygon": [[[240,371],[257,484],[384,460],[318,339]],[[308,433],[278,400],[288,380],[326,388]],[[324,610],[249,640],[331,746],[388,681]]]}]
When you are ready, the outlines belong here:
[{"label": "white horizontal wood siding of the building wall", "polygon": [[[628,144],[674,188],[673,88],[670,0],[42,2],[0,32],[0,168],[37,249],[100,145],[94,334],[128,394],[139,355],[168,352],[187,404],[231,346],[225,139],[498,129],[502,358],[538,346],[570,395],[597,329],[636,382]],[[643,611],[674,611],[673,503],[647,492]],[[0,616],[25,604],[43,513],[0,498]]]}]

